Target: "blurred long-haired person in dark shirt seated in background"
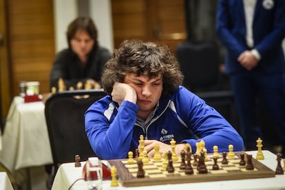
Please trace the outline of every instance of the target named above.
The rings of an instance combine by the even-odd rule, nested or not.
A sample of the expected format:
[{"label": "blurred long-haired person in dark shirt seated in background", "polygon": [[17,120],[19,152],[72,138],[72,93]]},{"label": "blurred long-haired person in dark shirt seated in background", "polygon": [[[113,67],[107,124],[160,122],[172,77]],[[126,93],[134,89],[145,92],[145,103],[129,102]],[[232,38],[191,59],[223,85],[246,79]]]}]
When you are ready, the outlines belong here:
[{"label": "blurred long-haired person in dark shirt seated in background", "polygon": [[[67,27],[68,48],[56,55],[50,74],[50,86],[58,88],[63,78],[66,89],[78,82],[100,83],[105,63],[111,57],[109,50],[98,45],[97,30],[89,17],[78,17]],[[94,87],[92,87],[94,88]]]}]

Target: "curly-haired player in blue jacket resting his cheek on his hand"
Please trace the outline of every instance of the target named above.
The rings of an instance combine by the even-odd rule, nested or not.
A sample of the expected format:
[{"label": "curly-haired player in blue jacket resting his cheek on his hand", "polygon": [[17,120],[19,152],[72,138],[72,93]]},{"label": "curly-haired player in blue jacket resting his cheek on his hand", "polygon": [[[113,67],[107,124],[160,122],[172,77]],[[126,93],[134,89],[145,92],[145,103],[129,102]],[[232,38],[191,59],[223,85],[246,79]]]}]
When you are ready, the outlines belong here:
[{"label": "curly-haired player in blue jacket resting his cheek on his hand", "polygon": [[124,41],[106,63],[102,85],[107,96],[85,112],[85,131],[95,153],[103,159],[127,158],[145,138],[149,158],[154,145],[160,154],[176,154],[185,143],[193,153],[196,142],[205,142],[208,152],[242,151],[244,144],[237,131],[201,98],[182,87],[178,61],[165,45]]}]

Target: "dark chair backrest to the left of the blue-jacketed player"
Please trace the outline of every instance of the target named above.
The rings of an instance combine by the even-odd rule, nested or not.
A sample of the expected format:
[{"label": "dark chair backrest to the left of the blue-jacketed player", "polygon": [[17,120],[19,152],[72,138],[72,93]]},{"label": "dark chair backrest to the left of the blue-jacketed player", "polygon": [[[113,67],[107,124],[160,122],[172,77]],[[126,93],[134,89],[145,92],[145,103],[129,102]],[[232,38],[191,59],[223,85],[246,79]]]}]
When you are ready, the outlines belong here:
[{"label": "dark chair backrest to the left of the blue-jacketed player", "polygon": [[64,162],[96,156],[85,134],[84,113],[92,103],[105,96],[103,89],[57,92],[45,102],[45,119],[52,158],[57,170]]}]

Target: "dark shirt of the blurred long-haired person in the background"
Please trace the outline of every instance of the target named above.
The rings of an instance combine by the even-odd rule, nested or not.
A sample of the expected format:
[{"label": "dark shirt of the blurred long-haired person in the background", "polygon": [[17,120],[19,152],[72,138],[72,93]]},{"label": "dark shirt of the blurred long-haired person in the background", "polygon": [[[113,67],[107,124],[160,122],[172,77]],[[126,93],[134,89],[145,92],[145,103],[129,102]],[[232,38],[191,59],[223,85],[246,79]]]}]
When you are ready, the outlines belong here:
[{"label": "dark shirt of the blurred long-haired person in the background", "polygon": [[111,53],[105,47],[94,45],[89,53],[87,63],[83,65],[78,56],[70,49],[65,49],[56,55],[50,73],[50,87],[58,88],[59,78],[63,78],[66,88],[74,87],[81,81],[83,85],[88,78],[100,82],[105,63]]}]

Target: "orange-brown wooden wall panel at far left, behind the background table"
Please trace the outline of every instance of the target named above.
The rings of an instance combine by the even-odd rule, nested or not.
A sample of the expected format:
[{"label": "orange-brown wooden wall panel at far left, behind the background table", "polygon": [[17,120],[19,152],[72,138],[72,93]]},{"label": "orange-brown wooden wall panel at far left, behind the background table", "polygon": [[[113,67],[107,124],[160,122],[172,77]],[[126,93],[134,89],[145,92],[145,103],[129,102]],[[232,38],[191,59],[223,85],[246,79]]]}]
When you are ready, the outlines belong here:
[{"label": "orange-brown wooden wall panel at far left, behind the background table", "polygon": [[20,81],[39,81],[39,92],[50,92],[54,61],[54,21],[50,0],[8,1],[12,94]]}]

